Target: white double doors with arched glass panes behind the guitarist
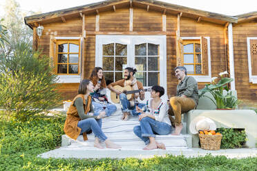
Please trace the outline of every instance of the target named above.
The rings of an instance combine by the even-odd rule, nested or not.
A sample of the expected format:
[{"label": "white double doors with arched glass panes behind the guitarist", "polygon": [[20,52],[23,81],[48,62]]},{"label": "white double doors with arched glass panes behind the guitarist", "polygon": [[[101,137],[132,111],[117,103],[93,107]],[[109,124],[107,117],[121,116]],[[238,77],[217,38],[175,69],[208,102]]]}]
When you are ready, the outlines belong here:
[{"label": "white double doors with arched glass panes behind the guitarist", "polygon": [[166,36],[97,35],[95,66],[102,66],[107,83],[124,78],[126,67],[144,87],[166,88]]}]

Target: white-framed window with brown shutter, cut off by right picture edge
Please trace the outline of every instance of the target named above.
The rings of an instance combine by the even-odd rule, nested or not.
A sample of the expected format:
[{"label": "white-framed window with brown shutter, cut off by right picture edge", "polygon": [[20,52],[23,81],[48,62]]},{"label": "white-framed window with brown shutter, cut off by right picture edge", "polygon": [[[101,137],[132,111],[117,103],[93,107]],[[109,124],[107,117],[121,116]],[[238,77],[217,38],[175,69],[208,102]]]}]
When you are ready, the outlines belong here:
[{"label": "white-framed window with brown shutter, cut off by right picture edge", "polygon": [[249,82],[257,83],[257,37],[247,37]]}]

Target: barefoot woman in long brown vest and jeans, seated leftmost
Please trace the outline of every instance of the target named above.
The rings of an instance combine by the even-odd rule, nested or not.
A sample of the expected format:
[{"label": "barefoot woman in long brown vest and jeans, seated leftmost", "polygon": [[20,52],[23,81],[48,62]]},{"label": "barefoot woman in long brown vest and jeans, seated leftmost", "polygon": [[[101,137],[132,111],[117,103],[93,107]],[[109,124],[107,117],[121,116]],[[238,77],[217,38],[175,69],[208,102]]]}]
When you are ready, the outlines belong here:
[{"label": "barefoot woman in long brown vest and jeans, seated leftmost", "polygon": [[106,148],[121,148],[120,145],[111,142],[102,131],[104,113],[94,116],[90,96],[90,93],[94,91],[93,89],[93,83],[89,79],[80,82],[78,94],[68,108],[64,132],[75,140],[79,134],[83,134],[84,141],[86,141],[88,139],[86,132],[92,131],[95,134],[94,146],[96,148],[104,148],[100,145],[99,140],[104,141]]}]

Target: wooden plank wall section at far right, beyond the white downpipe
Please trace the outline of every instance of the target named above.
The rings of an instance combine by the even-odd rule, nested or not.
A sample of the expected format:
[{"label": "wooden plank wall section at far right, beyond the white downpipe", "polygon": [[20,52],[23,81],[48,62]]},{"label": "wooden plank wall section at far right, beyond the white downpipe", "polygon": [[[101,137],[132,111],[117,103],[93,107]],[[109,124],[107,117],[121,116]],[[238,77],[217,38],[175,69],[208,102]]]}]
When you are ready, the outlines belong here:
[{"label": "wooden plank wall section at far right, beyond the white downpipe", "polygon": [[236,90],[242,105],[257,107],[257,85],[249,83],[247,37],[257,37],[257,21],[234,24],[234,66]]}]

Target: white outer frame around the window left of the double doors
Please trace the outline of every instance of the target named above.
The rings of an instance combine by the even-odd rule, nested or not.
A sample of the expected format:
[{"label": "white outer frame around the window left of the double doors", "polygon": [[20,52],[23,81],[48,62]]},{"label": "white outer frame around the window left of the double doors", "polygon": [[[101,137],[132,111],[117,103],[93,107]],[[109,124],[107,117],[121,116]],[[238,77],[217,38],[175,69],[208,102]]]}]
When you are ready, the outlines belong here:
[{"label": "white outer frame around the window left of the double doors", "polygon": [[[81,41],[81,37],[55,37],[56,40],[78,40]],[[57,75],[57,83],[80,83],[82,79],[82,45],[79,43],[80,48],[80,61],[79,68],[80,73],[78,75]],[[55,66],[56,67],[56,66]]]}]

